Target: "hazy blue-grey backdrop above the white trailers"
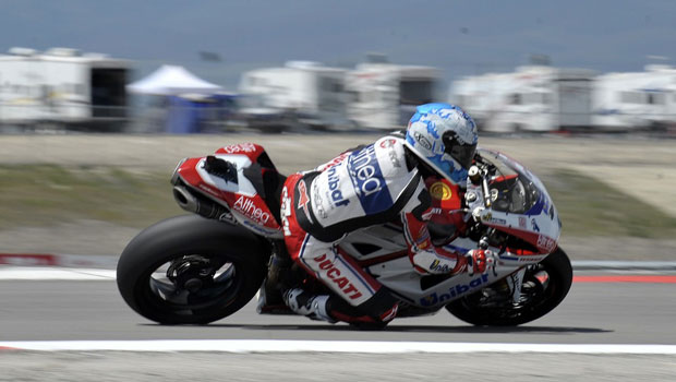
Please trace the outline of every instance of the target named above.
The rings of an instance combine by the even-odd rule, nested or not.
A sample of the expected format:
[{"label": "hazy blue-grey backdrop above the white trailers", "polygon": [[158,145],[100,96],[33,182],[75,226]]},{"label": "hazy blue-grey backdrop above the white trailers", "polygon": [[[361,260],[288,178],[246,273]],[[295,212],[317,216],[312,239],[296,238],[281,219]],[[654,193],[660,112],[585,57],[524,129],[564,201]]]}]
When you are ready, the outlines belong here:
[{"label": "hazy blue-grey backdrop above the white trailers", "polygon": [[[676,61],[676,1],[0,0],[0,51],[73,47],[136,62],[136,75],[183,64],[234,87],[242,71],[366,52],[438,67],[447,81],[510,71],[531,55],[557,67],[639,71]],[[200,51],[218,53],[205,62]]]}]

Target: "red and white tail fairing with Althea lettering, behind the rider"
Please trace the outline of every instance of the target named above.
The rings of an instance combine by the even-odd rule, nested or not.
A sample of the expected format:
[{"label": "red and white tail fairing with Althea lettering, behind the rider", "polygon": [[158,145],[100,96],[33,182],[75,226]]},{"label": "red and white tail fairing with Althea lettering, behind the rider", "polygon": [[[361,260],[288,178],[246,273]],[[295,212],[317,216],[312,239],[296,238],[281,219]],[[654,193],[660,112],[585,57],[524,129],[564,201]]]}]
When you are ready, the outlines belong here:
[{"label": "red and white tail fairing with Althea lettering, behind the rider", "polygon": [[237,182],[207,172],[204,168],[206,157],[185,159],[179,165],[177,174],[194,189],[229,207],[232,217],[239,224],[266,237],[282,238],[281,227],[267,203],[257,193],[251,180],[244,176],[244,169],[264,153],[263,146],[254,143],[233,144],[216,151],[214,155],[216,158],[236,166]]}]

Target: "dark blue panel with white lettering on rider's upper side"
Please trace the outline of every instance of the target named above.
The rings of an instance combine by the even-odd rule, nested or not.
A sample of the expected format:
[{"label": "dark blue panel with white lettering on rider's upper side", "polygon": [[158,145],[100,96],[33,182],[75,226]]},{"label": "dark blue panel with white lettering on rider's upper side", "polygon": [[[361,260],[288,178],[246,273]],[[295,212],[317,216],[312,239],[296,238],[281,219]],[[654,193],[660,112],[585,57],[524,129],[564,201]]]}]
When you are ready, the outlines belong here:
[{"label": "dark blue panel with white lettering on rider's upper side", "polygon": [[391,206],[393,200],[373,145],[350,155],[348,166],[352,186],[366,214],[376,214]]}]

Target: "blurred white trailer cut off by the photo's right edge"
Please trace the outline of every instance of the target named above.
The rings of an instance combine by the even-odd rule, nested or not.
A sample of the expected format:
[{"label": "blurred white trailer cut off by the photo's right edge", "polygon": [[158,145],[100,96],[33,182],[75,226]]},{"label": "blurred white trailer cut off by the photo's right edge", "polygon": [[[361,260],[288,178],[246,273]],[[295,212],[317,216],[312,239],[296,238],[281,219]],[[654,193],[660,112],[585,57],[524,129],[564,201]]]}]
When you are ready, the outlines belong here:
[{"label": "blurred white trailer cut off by the photo's right edge", "polygon": [[649,130],[676,124],[676,68],[599,75],[593,124],[606,131]]}]

